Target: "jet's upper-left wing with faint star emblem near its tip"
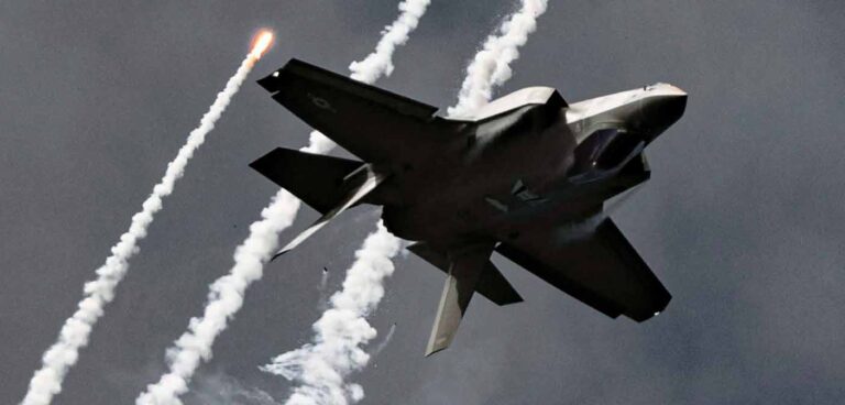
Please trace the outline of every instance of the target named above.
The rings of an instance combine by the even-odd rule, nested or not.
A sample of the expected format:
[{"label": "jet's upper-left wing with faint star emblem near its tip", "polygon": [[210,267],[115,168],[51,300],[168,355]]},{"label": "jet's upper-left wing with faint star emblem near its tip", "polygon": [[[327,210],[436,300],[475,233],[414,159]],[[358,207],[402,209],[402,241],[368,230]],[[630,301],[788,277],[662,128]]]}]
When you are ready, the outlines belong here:
[{"label": "jet's upper-left wing with faint star emblem near its tip", "polygon": [[314,129],[365,162],[413,164],[438,145],[437,108],[290,59],[259,80]]}]

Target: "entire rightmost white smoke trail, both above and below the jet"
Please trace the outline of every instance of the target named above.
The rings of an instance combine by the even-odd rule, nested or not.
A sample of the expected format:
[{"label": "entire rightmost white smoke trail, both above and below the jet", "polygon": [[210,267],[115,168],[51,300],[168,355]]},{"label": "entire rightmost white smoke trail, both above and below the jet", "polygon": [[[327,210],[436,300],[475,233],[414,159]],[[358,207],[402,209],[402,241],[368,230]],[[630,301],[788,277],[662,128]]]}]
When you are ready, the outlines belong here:
[{"label": "entire rightmost white smoke trail, both above and below the jet", "polygon": [[[546,11],[546,4],[545,0],[524,0],[523,8],[500,28],[501,35],[487,39],[467,69],[458,105],[450,109],[450,114],[471,113],[490,101],[494,86],[511,78],[509,64],[519,57],[517,48],[536,29],[536,19]],[[358,259],[347,273],[343,288],[332,296],[331,307],[314,324],[314,342],[277,355],[261,368],[299,383],[286,405],[347,405],[364,397],[361,385],[344,379],[370,361],[362,347],[375,338],[376,330],[365,318],[384,295],[382,283],[393,273],[391,260],[399,248],[400,240],[380,221],[378,229],[355,252]]]}]

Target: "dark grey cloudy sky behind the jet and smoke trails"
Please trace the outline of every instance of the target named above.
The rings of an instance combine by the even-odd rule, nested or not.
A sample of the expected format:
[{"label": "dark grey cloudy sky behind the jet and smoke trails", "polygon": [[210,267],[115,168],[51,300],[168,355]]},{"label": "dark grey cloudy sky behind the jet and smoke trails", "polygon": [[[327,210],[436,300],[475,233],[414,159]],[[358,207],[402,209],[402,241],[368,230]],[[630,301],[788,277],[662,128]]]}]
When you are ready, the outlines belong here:
[{"label": "dark grey cloudy sky behind the jet and smoke trails", "polygon": [[[515,1],[435,0],[380,85],[450,106]],[[246,164],[308,129],[254,79],[298,57],[345,73],[396,1],[0,2],[0,403],[248,51],[273,51],[188,166],[56,404],[128,404],[202,308],[275,191]],[[442,275],[397,260],[373,324],[393,341],[354,375],[370,404],[833,404],[845,397],[845,3],[551,1],[500,91],[575,101],[655,81],[690,94],[649,147],[651,180],[614,219],[674,298],[612,320],[494,259],[526,303],[478,299],[452,348],[424,359]],[[290,238],[315,212],[304,209]],[[342,270],[375,212],[358,208],[266,269],[188,404],[229,384],[284,399],[256,366],[312,335],[320,269]],[[252,404],[244,398],[242,404]]]}]

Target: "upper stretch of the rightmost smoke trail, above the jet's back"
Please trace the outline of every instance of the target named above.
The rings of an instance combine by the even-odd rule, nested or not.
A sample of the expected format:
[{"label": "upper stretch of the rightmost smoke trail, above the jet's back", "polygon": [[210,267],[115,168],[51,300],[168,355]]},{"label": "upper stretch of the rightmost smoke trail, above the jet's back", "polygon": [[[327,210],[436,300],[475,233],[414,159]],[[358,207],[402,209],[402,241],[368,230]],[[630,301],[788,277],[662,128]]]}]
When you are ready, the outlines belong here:
[{"label": "upper stretch of the rightmost smoke trail, above the jet's back", "polygon": [[500,26],[500,35],[491,35],[472,63],[458,95],[458,105],[448,109],[450,117],[471,117],[493,97],[494,86],[511,78],[511,63],[519,57],[519,46],[537,29],[537,18],[546,12],[548,0],[523,0],[519,11]]}]

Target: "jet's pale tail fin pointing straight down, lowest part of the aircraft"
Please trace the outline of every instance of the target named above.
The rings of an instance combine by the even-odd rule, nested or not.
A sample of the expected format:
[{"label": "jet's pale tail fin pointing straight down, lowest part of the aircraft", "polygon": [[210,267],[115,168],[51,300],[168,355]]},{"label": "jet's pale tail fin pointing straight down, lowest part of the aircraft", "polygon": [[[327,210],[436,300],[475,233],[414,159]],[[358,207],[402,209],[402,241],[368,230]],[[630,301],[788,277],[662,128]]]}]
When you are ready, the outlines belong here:
[{"label": "jet's pale tail fin pointing straight down, lowest part of the aircraft", "polygon": [[451,344],[492,252],[493,244],[472,245],[449,252],[449,274],[440,296],[426,355]]}]

